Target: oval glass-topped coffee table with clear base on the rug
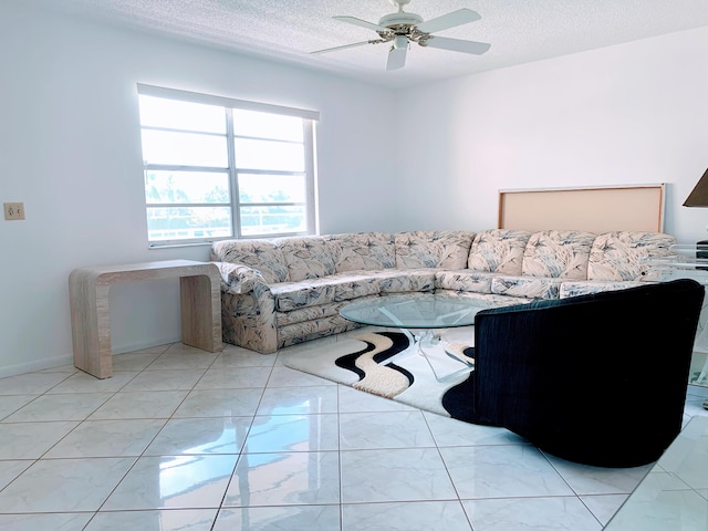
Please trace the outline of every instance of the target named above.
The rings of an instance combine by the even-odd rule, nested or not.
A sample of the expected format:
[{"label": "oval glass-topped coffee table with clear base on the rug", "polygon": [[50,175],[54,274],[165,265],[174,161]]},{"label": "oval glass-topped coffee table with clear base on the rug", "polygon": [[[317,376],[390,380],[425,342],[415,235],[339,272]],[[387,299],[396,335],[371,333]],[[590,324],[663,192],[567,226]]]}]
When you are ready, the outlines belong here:
[{"label": "oval glass-topped coffee table with clear base on the rug", "polygon": [[475,363],[442,348],[448,357],[462,366],[449,374],[439,375],[431,357],[440,355],[438,346],[440,332],[446,329],[473,325],[475,315],[478,312],[497,305],[478,299],[409,293],[353,302],[343,306],[340,315],[360,324],[400,329],[410,344],[405,351],[389,357],[383,364],[388,365],[412,355],[421,355],[435,378],[438,382],[445,382],[470,372]]}]

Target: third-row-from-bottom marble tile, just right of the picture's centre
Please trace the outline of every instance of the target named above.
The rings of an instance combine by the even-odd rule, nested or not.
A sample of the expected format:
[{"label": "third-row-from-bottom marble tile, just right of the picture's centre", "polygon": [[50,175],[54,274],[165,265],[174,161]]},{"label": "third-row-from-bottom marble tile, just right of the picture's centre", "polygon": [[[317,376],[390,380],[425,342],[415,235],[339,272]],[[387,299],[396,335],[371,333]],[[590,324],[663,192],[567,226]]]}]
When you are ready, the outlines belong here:
[{"label": "third-row-from-bottom marble tile, just right of the picture's centre", "polygon": [[341,414],[340,440],[343,450],[435,447],[419,410]]}]

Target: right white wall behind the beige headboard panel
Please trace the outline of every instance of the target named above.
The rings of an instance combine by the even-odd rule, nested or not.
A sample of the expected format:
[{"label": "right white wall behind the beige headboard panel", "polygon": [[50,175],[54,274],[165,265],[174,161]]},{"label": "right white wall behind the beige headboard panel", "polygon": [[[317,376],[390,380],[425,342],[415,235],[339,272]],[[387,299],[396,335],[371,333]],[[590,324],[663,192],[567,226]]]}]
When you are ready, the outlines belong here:
[{"label": "right white wall behind the beige headboard panel", "polygon": [[400,105],[404,227],[496,227],[499,189],[667,183],[665,230],[708,239],[708,209],[681,207],[708,168],[708,28],[408,90]]}]

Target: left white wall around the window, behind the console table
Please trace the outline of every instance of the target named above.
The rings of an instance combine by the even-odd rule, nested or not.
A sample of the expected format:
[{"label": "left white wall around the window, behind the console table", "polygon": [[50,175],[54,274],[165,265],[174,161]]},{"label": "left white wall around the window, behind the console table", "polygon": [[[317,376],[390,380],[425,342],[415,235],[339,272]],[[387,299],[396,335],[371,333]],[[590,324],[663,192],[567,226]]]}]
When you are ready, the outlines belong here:
[{"label": "left white wall around the window, behind the console table", "polygon": [[[393,230],[391,91],[25,9],[0,2],[0,202],[27,211],[0,220],[0,376],[71,361],[72,269],[208,260],[147,249],[138,82],[320,111],[322,231]],[[179,340],[177,282],[111,299],[114,352]]]}]

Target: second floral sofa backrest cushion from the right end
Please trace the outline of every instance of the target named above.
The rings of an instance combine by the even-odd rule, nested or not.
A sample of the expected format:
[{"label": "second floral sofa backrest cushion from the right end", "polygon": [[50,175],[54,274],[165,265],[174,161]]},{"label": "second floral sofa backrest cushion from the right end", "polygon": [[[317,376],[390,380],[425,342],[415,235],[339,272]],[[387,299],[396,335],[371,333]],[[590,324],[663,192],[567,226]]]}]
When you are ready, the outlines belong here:
[{"label": "second floral sofa backrest cushion from the right end", "polygon": [[521,272],[528,277],[587,279],[590,249],[596,235],[580,230],[543,230],[529,238]]}]

